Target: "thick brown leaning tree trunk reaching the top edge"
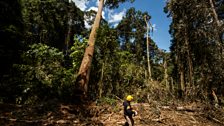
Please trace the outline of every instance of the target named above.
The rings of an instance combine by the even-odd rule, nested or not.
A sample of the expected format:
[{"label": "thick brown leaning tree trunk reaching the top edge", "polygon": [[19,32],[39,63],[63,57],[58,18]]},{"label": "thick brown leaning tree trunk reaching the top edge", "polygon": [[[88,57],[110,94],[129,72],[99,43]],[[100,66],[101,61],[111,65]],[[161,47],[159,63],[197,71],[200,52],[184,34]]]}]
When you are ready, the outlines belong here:
[{"label": "thick brown leaning tree trunk reaching the top edge", "polygon": [[76,79],[76,86],[79,86],[78,88],[83,91],[85,96],[87,95],[87,91],[88,91],[89,74],[90,74],[91,63],[93,59],[97,29],[100,26],[103,5],[104,5],[104,0],[99,0],[98,11],[97,11],[96,18],[92,26],[92,30],[88,40],[88,47],[85,50],[81,66],[79,68],[78,77]]}]

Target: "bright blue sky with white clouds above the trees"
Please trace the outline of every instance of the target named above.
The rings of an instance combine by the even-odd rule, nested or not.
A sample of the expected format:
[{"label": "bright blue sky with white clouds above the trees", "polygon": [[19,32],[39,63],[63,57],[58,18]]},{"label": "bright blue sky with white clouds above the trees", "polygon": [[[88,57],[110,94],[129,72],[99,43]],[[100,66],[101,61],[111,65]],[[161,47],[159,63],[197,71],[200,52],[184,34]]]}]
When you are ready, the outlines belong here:
[{"label": "bright blue sky with white clouds above the trees", "polygon": [[[98,0],[73,1],[82,11],[91,9],[97,11]],[[102,16],[111,26],[116,26],[119,21],[121,21],[122,17],[125,16],[126,11],[131,7],[142,12],[148,12],[148,14],[151,15],[151,23],[154,27],[154,32],[150,34],[150,37],[160,49],[169,51],[171,37],[168,31],[171,19],[163,12],[165,5],[166,0],[135,0],[134,3],[126,2],[120,4],[117,9],[111,10],[104,8]],[[89,28],[90,26],[86,24],[86,27]]]}]

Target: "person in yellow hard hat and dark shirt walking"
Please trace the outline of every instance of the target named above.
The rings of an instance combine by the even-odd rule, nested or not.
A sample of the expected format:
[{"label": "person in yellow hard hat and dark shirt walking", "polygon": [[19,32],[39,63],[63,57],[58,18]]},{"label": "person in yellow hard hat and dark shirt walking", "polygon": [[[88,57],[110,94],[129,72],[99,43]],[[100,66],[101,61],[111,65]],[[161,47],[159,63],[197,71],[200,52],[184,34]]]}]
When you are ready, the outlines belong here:
[{"label": "person in yellow hard hat and dark shirt walking", "polygon": [[131,101],[133,100],[133,97],[131,95],[128,95],[126,97],[126,100],[123,102],[124,106],[124,118],[126,119],[125,126],[134,126],[134,119],[132,116],[137,115],[137,111],[135,111],[131,107]]}]

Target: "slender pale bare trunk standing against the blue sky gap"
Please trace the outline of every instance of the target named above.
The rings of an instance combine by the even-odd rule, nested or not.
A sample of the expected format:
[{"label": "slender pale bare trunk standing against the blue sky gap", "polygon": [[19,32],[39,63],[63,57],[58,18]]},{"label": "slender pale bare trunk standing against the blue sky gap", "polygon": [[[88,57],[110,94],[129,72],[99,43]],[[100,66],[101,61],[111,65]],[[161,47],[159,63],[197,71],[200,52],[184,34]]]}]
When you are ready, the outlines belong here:
[{"label": "slender pale bare trunk standing against the blue sky gap", "polygon": [[152,72],[151,72],[151,65],[150,65],[150,57],[149,57],[149,24],[147,21],[147,17],[145,16],[145,23],[146,23],[146,46],[147,46],[147,63],[148,63],[148,79],[152,81]]}]

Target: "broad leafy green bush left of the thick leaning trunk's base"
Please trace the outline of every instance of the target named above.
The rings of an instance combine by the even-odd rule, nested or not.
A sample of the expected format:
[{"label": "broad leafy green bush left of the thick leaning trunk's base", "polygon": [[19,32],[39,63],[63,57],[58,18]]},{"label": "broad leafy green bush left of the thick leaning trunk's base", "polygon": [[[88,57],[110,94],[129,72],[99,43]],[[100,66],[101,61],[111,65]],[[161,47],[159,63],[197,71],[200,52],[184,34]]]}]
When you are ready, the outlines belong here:
[{"label": "broad leafy green bush left of the thick leaning trunk's base", "polygon": [[[32,103],[49,98],[63,98],[71,93],[73,71],[63,66],[63,53],[44,44],[34,44],[23,55],[24,64],[15,65],[20,72],[17,82],[22,94],[18,103]],[[18,78],[17,78],[18,79]],[[67,88],[67,89],[66,89]],[[71,95],[70,94],[70,95]]]}]

